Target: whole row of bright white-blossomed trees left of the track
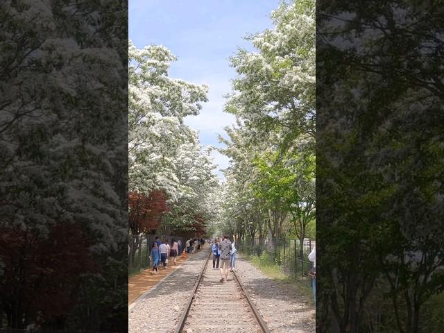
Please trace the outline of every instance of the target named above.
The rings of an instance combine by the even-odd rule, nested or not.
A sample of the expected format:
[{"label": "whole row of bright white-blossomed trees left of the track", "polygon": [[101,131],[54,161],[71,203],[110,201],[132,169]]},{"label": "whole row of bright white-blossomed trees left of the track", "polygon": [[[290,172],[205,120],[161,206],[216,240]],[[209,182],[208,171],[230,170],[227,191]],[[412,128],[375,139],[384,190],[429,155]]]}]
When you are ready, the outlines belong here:
[{"label": "whole row of bright white-blossomed trees left of the track", "polygon": [[137,49],[129,42],[128,54],[130,192],[166,194],[170,211],[158,221],[162,232],[203,233],[214,210],[209,194],[218,182],[211,148],[200,145],[183,119],[200,112],[207,87],[170,78],[177,59],[164,46]]}]

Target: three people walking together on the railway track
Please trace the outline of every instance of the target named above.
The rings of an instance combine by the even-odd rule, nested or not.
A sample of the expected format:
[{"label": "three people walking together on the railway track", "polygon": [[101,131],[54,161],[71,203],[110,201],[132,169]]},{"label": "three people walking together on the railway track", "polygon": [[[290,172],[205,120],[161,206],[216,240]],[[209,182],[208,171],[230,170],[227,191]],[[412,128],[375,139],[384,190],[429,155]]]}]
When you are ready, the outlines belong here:
[{"label": "three people walking together on the railway track", "polygon": [[233,271],[236,262],[236,244],[233,239],[231,242],[227,236],[223,236],[222,240],[214,239],[212,242],[213,252],[213,269],[221,270],[221,282],[226,282],[228,278],[228,271]]}]

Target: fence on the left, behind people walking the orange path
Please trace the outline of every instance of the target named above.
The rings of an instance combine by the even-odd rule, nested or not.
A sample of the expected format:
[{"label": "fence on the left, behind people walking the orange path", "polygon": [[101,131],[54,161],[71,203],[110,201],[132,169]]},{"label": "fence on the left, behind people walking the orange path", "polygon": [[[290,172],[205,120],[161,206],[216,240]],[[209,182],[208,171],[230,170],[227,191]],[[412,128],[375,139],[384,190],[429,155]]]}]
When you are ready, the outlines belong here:
[{"label": "fence on the left, behind people walking the orange path", "polygon": [[[161,241],[167,241],[171,244],[171,239],[176,239],[178,242],[178,255],[182,253],[185,248],[187,239],[181,236],[165,236],[159,235]],[[155,236],[151,234],[135,234],[128,236],[128,275],[134,275],[141,270],[148,268],[150,262],[150,250],[155,241]]]}]

